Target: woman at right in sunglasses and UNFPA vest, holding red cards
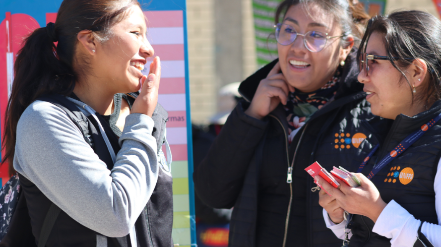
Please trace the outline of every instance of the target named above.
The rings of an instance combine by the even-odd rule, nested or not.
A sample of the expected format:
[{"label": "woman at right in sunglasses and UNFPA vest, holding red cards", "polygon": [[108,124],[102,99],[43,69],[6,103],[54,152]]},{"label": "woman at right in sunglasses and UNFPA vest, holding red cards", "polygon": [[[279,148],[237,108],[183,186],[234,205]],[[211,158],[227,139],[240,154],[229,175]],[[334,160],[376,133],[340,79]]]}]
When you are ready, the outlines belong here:
[{"label": "woman at right in sunglasses and UNFPA vest, holding red cards", "polygon": [[441,246],[441,22],[420,11],[375,17],[358,58],[379,117],[361,123],[360,187],[317,177],[332,195],[320,192],[327,226],[349,246]]}]

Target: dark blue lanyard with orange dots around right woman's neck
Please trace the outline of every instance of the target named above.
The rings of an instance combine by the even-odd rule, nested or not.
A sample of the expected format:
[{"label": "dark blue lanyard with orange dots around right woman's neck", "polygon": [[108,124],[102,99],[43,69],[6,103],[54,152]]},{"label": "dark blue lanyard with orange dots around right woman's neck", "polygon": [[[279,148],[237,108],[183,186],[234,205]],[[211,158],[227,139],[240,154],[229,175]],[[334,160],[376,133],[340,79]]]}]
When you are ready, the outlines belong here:
[{"label": "dark blue lanyard with orange dots around right woman's neck", "polygon": [[[377,172],[379,172],[385,165],[389,164],[392,160],[394,160],[398,155],[403,153],[408,147],[410,147],[416,140],[418,140],[424,133],[426,133],[430,128],[432,128],[435,123],[441,119],[441,113],[437,115],[434,119],[431,119],[428,123],[421,126],[421,128],[409,136],[407,136],[403,141],[400,142],[389,154],[387,154],[383,159],[375,164],[372,170],[367,175],[367,178],[370,180]],[[367,161],[369,161],[370,157],[375,153],[375,151],[380,147],[380,144],[377,144],[372,151],[367,155],[367,157],[363,160],[360,167],[358,167],[357,172],[360,173],[363,170],[364,165],[366,165]]]}]

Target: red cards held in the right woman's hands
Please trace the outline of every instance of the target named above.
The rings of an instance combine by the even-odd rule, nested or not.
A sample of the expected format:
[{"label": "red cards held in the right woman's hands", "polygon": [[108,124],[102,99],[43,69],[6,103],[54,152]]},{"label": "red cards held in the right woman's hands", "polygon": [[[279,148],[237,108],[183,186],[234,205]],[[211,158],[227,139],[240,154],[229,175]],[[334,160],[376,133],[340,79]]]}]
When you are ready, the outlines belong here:
[{"label": "red cards held in the right woman's hands", "polygon": [[[331,174],[325,168],[323,168],[317,161],[314,162],[312,165],[306,167],[305,171],[309,173],[309,175],[311,175],[312,177],[319,175],[323,177],[326,181],[328,181],[333,187],[337,189],[340,188],[340,183],[333,176],[331,176]],[[342,181],[344,181],[350,187],[360,186],[360,181],[358,180],[358,178],[341,166],[340,168],[334,166],[334,169],[331,171],[331,173],[334,176],[341,179]],[[316,179],[314,179],[314,183],[316,183],[322,190],[324,190]],[[324,191],[329,195],[329,193],[326,190]]]}]

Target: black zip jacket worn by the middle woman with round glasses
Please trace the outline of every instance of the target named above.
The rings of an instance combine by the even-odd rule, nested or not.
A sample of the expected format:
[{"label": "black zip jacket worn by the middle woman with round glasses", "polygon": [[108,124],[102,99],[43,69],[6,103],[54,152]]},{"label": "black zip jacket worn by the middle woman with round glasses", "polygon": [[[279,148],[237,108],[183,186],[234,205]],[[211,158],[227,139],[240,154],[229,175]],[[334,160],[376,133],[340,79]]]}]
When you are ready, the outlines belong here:
[{"label": "black zip jacket worn by the middle woman with round glasses", "polygon": [[[242,82],[239,92],[248,102],[276,63]],[[233,110],[194,173],[196,192],[206,204],[234,206],[230,246],[283,246],[285,235],[285,246],[341,244],[326,228],[318,192],[311,192],[315,184],[303,169],[318,161],[330,170],[349,166],[356,159],[356,148],[363,139],[359,121],[372,117],[357,75],[352,52],[335,100],[311,116],[290,146],[282,105],[263,120],[244,114],[248,102],[240,102]],[[293,182],[287,183],[291,164]]]}]

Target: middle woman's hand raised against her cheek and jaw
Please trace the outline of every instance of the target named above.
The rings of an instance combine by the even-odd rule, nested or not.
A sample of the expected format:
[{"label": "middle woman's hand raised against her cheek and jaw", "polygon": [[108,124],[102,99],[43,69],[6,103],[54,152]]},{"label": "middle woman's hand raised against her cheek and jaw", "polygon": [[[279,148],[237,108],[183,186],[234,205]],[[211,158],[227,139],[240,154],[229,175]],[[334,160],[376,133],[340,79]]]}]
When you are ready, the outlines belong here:
[{"label": "middle woman's hand raised against her cheek and jaw", "polygon": [[260,81],[256,94],[245,114],[262,119],[273,111],[280,102],[286,104],[289,92],[294,92],[294,87],[286,82],[285,76],[280,72],[277,63],[270,71],[267,78]]}]

